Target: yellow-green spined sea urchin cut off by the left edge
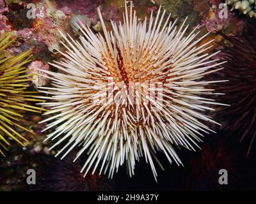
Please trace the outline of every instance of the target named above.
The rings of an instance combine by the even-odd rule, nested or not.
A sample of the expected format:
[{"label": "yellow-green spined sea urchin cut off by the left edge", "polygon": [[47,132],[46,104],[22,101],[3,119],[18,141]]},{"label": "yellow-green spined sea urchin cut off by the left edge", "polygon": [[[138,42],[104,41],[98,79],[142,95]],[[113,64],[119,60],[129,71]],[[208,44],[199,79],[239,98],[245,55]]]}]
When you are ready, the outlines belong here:
[{"label": "yellow-green spined sea urchin cut off by the left edge", "polygon": [[15,140],[20,145],[24,145],[26,138],[17,132],[17,128],[33,133],[28,128],[24,128],[26,123],[22,111],[40,112],[42,108],[28,105],[29,101],[42,101],[35,98],[33,91],[26,91],[29,77],[26,74],[24,64],[31,58],[31,51],[22,52],[17,56],[6,56],[5,49],[15,41],[13,33],[5,32],[0,37],[0,154],[3,149],[11,145],[11,140]]}]

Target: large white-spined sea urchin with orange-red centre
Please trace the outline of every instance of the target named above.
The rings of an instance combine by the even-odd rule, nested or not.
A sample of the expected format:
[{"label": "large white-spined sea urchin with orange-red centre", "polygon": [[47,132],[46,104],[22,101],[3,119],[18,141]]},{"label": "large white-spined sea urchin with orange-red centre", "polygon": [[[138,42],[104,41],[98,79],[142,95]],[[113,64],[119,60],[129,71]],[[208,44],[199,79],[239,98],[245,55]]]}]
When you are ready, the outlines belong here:
[{"label": "large white-spined sea urchin with orange-red centre", "polygon": [[149,22],[147,17],[138,22],[132,6],[128,12],[125,3],[124,23],[111,22],[111,32],[98,11],[104,37],[77,25],[81,41],[62,34],[67,52],[58,52],[65,59],[52,64],[62,73],[42,70],[53,85],[40,88],[51,95],[45,97],[51,102],[42,103],[51,108],[45,115],[55,113],[42,121],[52,120],[46,129],[56,127],[47,139],[59,139],[52,148],[65,143],[56,154],[65,152],[61,158],[79,145],[76,159],[87,151],[81,170],[85,175],[100,165],[100,173],[108,171],[113,177],[126,163],[131,176],[135,161],[145,156],[156,178],[156,150],[170,163],[182,164],[174,147],[194,150],[193,145],[202,141],[200,131],[211,131],[202,121],[214,121],[202,111],[218,103],[201,94],[212,94],[204,85],[218,81],[200,79],[223,62],[207,61],[214,55],[204,54],[213,40],[198,45],[207,34],[195,40],[196,27],[186,36],[186,20],[178,28],[170,15],[164,18],[161,8],[156,18],[151,13]]}]

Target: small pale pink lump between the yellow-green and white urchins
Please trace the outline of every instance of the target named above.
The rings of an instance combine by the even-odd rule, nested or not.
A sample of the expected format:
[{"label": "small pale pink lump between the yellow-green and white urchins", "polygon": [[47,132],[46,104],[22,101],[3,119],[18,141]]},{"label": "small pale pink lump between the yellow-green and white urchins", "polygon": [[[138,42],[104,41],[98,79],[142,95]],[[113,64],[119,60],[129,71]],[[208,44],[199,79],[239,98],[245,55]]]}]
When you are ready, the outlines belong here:
[{"label": "small pale pink lump between the yellow-green and white urchins", "polygon": [[49,84],[50,80],[44,77],[47,75],[44,72],[40,71],[40,69],[48,71],[50,69],[49,64],[44,64],[44,62],[42,61],[33,61],[31,62],[31,64],[29,64],[28,69],[29,69],[28,73],[35,73],[31,81],[36,86],[40,87],[40,86]]}]

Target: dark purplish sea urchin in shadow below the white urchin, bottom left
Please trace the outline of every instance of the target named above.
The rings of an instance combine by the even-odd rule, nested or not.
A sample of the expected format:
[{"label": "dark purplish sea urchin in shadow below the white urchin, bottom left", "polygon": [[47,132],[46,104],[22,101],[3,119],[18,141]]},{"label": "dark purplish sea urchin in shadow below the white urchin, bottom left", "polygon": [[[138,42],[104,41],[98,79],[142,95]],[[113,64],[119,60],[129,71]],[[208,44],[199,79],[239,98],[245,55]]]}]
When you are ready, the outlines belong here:
[{"label": "dark purplish sea urchin in shadow below the white urchin, bottom left", "polygon": [[88,173],[85,178],[79,171],[83,164],[81,159],[75,164],[72,161],[72,154],[65,157],[63,161],[52,159],[51,156],[44,156],[44,166],[40,171],[40,179],[35,186],[30,186],[36,191],[113,191],[115,181],[108,180],[102,175]]}]

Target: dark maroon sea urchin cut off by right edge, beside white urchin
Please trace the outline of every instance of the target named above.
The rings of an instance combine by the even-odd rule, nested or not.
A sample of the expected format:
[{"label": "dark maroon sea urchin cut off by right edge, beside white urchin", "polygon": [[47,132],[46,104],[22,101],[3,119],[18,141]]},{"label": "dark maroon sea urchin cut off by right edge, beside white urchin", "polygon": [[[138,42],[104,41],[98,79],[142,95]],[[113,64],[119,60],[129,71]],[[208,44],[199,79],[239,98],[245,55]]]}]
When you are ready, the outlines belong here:
[{"label": "dark maroon sea urchin cut off by right edge, beside white urchin", "polygon": [[222,101],[230,104],[230,108],[222,110],[220,116],[225,121],[225,129],[241,135],[241,141],[251,136],[248,154],[256,136],[256,29],[250,27],[244,36],[223,36],[232,45],[223,45],[221,57],[227,59],[226,69],[220,73],[229,82],[216,87],[225,95]]}]

